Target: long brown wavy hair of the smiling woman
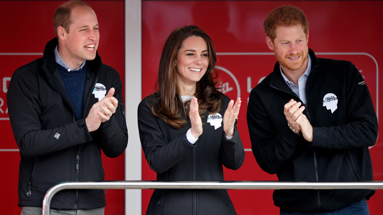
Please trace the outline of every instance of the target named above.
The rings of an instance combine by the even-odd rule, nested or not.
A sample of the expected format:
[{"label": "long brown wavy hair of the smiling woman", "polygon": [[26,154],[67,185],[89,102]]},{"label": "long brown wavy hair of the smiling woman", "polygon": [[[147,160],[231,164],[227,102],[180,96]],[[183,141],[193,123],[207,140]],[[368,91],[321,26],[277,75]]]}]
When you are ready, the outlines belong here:
[{"label": "long brown wavy hair of the smiling woman", "polygon": [[216,87],[219,82],[217,79],[219,72],[215,68],[217,55],[210,36],[197,26],[176,28],[170,33],[164,44],[155,85],[158,91],[152,97],[152,113],[157,117],[161,117],[176,129],[180,129],[187,123],[186,117],[189,115],[190,101],[184,104],[179,97],[175,60],[183,41],[191,36],[202,37],[206,41],[208,48],[209,66],[196,85],[195,96],[198,100],[199,115],[202,117],[206,111],[209,113],[218,112],[223,98],[223,94]]}]

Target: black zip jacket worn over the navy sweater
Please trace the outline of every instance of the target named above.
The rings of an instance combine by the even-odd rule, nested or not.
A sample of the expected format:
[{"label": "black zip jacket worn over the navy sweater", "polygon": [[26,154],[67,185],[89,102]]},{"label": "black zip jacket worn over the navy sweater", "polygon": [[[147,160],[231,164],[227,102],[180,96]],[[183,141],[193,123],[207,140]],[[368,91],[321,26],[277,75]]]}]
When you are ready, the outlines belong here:
[{"label": "black zip jacket worn over the navy sweater", "polygon": [[[121,80],[117,71],[102,64],[97,54],[86,61],[88,72],[82,100],[82,119],[65,91],[56,69],[54,49],[49,41],[43,57],[12,75],[7,92],[9,119],[20,149],[19,206],[41,207],[46,191],[63,181],[101,181],[104,169],[101,150],[108,157],[121,155],[128,143]],[[115,88],[116,112],[97,131],[89,133],[85,118],[98,102],[95,84],[108,92]],[[51,207],[92,209],[106,205],[103,190],[64,190],[58,192]]]}]

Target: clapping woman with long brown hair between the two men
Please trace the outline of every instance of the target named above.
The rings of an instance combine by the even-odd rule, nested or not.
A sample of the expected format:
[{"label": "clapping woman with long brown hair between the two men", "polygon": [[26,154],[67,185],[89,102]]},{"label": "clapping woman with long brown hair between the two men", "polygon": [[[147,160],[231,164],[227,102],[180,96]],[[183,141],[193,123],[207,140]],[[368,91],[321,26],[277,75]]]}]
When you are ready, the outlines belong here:
[{"label": "clapping woman with long brown hair between the two men", "polygon": [[[245,152],[234,104],[218,91],[212,40],[196,26],[176,28],[160,59],[156,92],[138,106],[145,158],[158,181],[223,181]],[[156,189],[147,215],[236,215],[224,189]]]}]

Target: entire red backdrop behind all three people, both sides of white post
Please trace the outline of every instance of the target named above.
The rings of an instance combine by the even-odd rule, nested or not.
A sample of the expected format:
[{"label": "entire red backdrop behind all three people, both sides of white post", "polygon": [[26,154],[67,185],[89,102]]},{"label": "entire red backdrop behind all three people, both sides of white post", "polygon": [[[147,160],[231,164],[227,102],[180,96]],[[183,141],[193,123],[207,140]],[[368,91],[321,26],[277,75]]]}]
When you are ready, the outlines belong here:
[{"label": "entire red backdrop behind all three people, both sides of white post", "polygon": [[[64,1],[0,0],[0,170],[2,171],[0,206],[2,214],[20,214],[17,207],[19,152],[7,121],[6,89],[9,77],[19,66],[38,55],[4,53],[42,53],[52,39],[53,14]],[[100,23],[99,53],[103,62],[119,71],[124,82],[124,1],[90,0]],[[236,171],[225,169],[226,180],[276,180],[262,171],[250,148],[246,125],[247,97],[250,89],[268,75],[274,66],[273,53],[265,44],[262,23],[267,13],[282,4],[300,6],[310,23],[309,48],[319,57],[347,59],[358,67],[370,89],[377,113],[379,106],[379,65],[383,54],[380,43],[383,1],[142,1],[142,96],[153,92],[164,41],[179,26],[197,25],[213,39],[221,68],[222,84],[230,98],[242,97],[238,129],[246,158]],[[319,54],[323,53],[323,54]],[[329,53],[329,54],[324,54]],[[340,54],[339,54],[340,53]],[[377,73],[378,72],[378,73]],[[381,76],[382,77],[382,76]],[[382,94],[382,93],[381,93]],[[126,105],[129,105],[125,102]],[[379,114],[381,115],[381,114]],[[379,117],[379,121],[380,121]],[[374,177],[383,181],[382,141],[371,148]],[[106,180],[124,179],[124,157],[103,157]],[[142,179],[155,180],[155,173],[142,161]],[[106,215],[123,214],[123,190],[108,190]],[[152,190],[142,191],[142,210]],[[229,190],[239,215],[277,214],[272,190]],[[383,191],[368,202],[372,215],[380,214]]]}]

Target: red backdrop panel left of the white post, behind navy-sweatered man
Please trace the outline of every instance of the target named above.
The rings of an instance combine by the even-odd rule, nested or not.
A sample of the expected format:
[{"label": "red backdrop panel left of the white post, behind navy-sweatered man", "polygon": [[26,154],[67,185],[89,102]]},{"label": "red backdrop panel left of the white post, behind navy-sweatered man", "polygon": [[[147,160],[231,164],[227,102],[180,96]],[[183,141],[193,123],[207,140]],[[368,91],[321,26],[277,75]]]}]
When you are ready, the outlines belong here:
[{"label": "red backdrop panel left of the white post, behind navy-sweatered man", "polygon": [[[9,151],[18,148],[5,111],[8,80],[18,67],[42,56],[45,44],[55,37],[55,10],[64,2],[0,0],[0,206],[4,215],[20,215],[17,207],[20,154]],[[100,24],[98,52],[103,63],[113,66],[124,84],[124,1],[86,2],[96,12]],[[106,180],[124,180],[124,155],[115,159],[103,155],[103,165]],[[124,190],[107,190],[106,197],[106,215],[124,214]]]}]

